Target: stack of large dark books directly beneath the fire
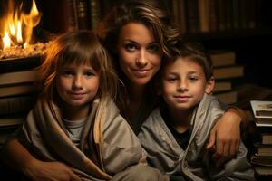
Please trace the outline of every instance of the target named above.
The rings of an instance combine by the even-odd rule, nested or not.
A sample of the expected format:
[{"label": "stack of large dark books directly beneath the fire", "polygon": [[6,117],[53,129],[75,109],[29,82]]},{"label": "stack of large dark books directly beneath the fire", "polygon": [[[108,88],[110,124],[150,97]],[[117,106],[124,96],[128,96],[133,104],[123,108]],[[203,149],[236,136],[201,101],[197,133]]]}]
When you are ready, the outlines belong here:
[{"label": "stack of large dark books directly beneath the fire", "polygon": [[34,107],[39,57],[0,60],[0,145]]}]

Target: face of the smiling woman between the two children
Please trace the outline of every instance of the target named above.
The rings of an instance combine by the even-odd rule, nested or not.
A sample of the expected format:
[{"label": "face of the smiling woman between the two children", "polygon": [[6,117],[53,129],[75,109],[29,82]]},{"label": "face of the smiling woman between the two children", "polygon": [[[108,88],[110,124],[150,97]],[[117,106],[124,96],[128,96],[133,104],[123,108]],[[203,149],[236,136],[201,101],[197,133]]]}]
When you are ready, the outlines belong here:
[{"label": "face of the smiling woman between the two children", "polygon": [[124,25],[119,35],[117,50],[121,71],[135,85],[147,84],[160,69],[160,44],[156,43],[151,29],[144,24]]}]

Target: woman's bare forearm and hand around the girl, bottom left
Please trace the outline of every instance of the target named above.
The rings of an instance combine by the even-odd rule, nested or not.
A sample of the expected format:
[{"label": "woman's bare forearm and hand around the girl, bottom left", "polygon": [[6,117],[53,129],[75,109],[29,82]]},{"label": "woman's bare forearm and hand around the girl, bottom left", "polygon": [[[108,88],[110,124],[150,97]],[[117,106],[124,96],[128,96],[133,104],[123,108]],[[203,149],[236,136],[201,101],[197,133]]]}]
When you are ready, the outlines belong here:
[{"label": "woman's bare forearm and hand around the girl, bottom left", "polygon": [[1,160],[6,165],[23,172],[24,175],[34,181],[81,180],[70,167],[65,166],[63,163],[43,162],[36,159],[16,138],[9,140],[5,144],[5,148],[1,152]]}]

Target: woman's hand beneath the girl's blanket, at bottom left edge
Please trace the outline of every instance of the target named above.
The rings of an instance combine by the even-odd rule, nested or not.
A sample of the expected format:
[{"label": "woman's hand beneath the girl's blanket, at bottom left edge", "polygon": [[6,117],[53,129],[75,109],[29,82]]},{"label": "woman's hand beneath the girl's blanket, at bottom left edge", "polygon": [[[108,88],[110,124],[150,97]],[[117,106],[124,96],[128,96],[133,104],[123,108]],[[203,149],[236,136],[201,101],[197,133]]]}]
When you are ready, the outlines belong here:
[{"label": "woman's hand beneath the girl's blanket, at bottom left edge", "polygon": [[37,159],[23,169],[24,175],[34,181],[81,181],[70,167],[60,162],[42,162]]}]

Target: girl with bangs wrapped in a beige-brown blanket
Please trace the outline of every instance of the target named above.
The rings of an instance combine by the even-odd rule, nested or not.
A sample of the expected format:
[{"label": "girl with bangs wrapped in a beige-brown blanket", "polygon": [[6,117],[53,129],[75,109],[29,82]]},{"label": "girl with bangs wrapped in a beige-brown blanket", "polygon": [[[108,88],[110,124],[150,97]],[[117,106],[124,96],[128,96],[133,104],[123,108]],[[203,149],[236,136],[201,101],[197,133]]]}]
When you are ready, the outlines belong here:
[{"label": "girl with bangs wrapped in a beige-brown blanket", "polygon": [[34,157],[83,180],[167,179],[140,163],[141,144],[111,99],[117,77],[94,33],[58,37],[40,71],[41,95],[17,137]]}]

